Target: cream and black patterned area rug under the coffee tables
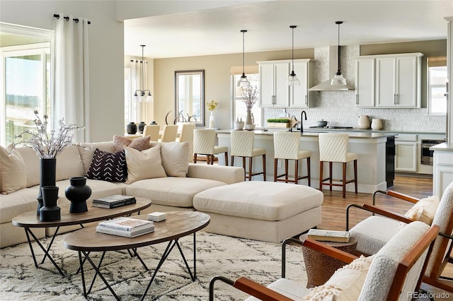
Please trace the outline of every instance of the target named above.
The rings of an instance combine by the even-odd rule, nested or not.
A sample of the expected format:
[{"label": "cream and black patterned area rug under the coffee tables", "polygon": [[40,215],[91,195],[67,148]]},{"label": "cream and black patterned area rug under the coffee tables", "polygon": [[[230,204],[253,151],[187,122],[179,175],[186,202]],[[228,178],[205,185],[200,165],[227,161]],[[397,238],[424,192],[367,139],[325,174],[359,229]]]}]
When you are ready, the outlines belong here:
[{"label": "cream and black patterned area rug under the coffee tables", "polygon": [[[47,259],[41,268],[35,268],[28,244],[18,244],[0,250],[0,300],[86,300],[79,268],[78,253],[65,249],[65,234],[58,235],[51,253],[69,278],[59,275]],[[44,243],[50,239],[42,239]],[[193,236],[180,239],[189,266],[193,267]],[[164,252],[166,243],[142,247],[138,252],[150,271],[146,271],[137,258],[128,252],[107,252],[102,273],[121,300],[139,300],[151,279],[152,272]],[[281,244],[259,242],[197,232],[197,280],[190,279],[178,249],[173,249],[157,273],[146,300],[208,300],[209,282],[221,275],[236,279],[246,276],[268,285],[280,278]],[[38,246],[35,252],[40,254]],[[101,253],[91,254],[95,263]],[[91,281],[93,270],[85,264],[86,281]],[[304,285],[305,266],[300,247],[287,247],[287,278]],[[239,290],[222,282],[216,283],[215,300],[243,300]],[[96,278],[88,300],[114,300],[100,278]]]}]

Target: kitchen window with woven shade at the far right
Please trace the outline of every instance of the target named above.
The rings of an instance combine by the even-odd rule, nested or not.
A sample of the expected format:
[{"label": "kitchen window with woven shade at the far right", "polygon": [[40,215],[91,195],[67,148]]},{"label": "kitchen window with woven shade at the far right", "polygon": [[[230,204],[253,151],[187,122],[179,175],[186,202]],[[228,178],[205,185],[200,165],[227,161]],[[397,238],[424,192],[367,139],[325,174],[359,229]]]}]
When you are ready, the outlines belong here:
[{"label": "kitchen window with woven shade at the far right", "polygon": [[447,113],[447,58],[428,57],[428,114]]}]

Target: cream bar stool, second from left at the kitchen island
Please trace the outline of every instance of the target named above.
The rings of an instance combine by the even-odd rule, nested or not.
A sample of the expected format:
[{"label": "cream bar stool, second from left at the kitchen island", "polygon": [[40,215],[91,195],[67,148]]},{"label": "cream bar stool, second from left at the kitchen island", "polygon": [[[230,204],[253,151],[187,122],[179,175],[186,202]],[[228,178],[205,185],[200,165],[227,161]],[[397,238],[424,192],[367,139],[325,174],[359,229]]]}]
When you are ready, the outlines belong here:
[{"label": "cream bar stool, second from left at the kitchen island", "polygon": [[[251,181],[254,175],[263,175],[266,180],[266,149],[253,148],[255,143],[255,132],[253,131],[231,131],[231,166],[234,166],[234,157],[242,157],[242,167],[246,170],[246,158],[248,158],[248,172],[245,172],[244,179],[248,175],[248,181]],[[263,156],[263,171],[252,172],[253,157]]]}]

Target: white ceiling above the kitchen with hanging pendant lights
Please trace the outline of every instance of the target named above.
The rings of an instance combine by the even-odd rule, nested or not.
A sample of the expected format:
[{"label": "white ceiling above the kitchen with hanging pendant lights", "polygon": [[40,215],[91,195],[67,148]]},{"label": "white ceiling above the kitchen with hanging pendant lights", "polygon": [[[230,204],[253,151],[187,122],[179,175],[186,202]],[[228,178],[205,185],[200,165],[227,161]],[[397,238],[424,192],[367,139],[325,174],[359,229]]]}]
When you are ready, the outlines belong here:
[{"label": "white ceiling above the kitchen with hanging pendant lights", "polygon": [[[149,1],[170,5],[172,1]],[[228,5],[228,1],[224,1]],[[125,55],[191,57],[338,45],[365,45],[447,38],[448,1],[259,1],[203,11],[125,20]]]}]

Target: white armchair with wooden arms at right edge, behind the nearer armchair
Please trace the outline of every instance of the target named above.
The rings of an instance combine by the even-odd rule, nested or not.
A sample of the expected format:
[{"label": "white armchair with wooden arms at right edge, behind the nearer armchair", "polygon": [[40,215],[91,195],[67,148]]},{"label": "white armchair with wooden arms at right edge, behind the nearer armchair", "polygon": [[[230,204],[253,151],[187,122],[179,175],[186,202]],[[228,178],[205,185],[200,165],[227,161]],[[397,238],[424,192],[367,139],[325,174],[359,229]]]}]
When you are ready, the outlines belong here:
[{"label": "white armchair with wooden arms at right edge, behind the nearer armchair", "polygon": [[[419,201],[411,196],[390,190],[377,191],[374,193],[374,196],[379,193],[384,193],[411,203]],[[362,254],[376,254],[400,230],[401,222],[411,223],[413,221],[401,214],[379,208],[374,203],[373,199],[373,205],[364,204],[358,206],[351,204],[346,209],[346,230],[349,230],[349,211],[351,208],[360,208],[373,213],[373,216],[362,220],[349,230],[351,236],[357,238],[357,252]],[[440,232],[428,260],[428,267],[423,276],[423,282],[453,293],[453,279],[441,276],[445,266],[448,263],[453,263],[451,257],[453,247],[453,182],[449,184],[442,195],[435,217],[432,220],[432,225],[438,225]]]}]

